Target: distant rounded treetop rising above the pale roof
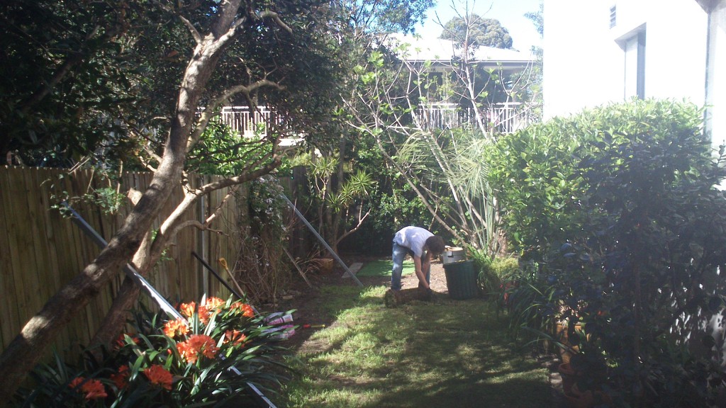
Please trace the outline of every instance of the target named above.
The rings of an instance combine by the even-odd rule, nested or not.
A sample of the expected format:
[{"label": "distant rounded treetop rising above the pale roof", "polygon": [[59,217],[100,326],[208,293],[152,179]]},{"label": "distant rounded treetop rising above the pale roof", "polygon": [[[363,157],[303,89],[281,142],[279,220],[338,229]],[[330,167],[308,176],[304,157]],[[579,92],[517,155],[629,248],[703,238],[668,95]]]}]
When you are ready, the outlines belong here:
[{"label": "distant rounded treetop rising above the pale roof", "polygon": [[512,36],[502,27],[499,20],[484,18],[476,14],[460,15],[444,24],[441,37],[468,47],[493,46],[494,48],[512,48]]}]

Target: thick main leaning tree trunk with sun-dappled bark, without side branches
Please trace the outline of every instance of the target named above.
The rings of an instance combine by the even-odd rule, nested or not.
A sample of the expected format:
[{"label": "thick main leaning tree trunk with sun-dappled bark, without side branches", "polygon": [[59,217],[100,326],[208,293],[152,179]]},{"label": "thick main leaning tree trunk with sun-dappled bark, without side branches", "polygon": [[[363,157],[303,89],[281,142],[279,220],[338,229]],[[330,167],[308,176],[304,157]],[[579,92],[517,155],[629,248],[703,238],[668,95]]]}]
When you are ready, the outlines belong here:
[{"label": "thick main leaning tree trunk with sun-dappled bark, without side branches", "polygon": [[[144,234],[152,226],[152,221],[167,202],[172,189],[179,183],[197,102],[219,60],[221,50],[239,27],[239,24],[233,23],[240,7],[240,0],[224,1],[222,4],[223,7],[219,9],[211,33],[202,37],[196,31],[192,31],[197,45],[184,71],[166,146],[149,188],[99,256],[53,295],[4,350],[0,356],[0,406],[4,407],[11,403],[12,396],[20,383],[41,359],[45,349],[60,330],[68,325],[68,322],[134,256]],[[191,24],[188,26],[190,30],[195,30]]]}]

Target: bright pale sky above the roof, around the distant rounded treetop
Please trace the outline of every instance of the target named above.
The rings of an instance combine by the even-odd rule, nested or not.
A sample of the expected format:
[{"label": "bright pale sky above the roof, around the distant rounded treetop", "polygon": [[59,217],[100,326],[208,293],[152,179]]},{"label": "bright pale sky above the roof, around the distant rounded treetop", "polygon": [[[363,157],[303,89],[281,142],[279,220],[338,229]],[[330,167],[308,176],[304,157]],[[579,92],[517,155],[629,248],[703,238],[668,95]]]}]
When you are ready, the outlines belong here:
[{"label": "bright pale sky above the roof, around the distant rounded treetop", "polygon": [[[499,20],[513,39],[513,48],[522,52],[529,52],[532,46],[542,46],[534,24],[524,14],[539,11],[542,0],[437,0],[436,6],[428,11],[428,20],[416,28],[416,33],[423,38],[438,38],[441,35],[441,26],[436,24],[436,14],[441,23],[446,23],[456,17],[452,7],[461,10],[461,14],[468,3],[472,14],[485,18]],[[436,14],[435,14],[436,13]]]}]

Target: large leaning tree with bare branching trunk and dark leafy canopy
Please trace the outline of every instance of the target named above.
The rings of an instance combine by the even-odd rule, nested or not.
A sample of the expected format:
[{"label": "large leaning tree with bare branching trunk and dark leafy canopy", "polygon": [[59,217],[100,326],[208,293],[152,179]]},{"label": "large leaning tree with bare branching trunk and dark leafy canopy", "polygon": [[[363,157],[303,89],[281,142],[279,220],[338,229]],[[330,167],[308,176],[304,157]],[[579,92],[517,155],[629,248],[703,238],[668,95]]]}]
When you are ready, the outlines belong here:
[{"label": "large leaning tree with bare branching trunk and dark leafy canopy", "polygon": [[[97,2],[81,2],[78,9],[71,10],[68,8],[69,2],[38,2],[42,13],[28,16],[28,19],[38,27],[38,30],[33,32],[41,35],[40,28],[43,27],[44,19],[50,16],[53,20],[62,22],[66,17],[73,15],[73,12],[79,12],[83,7],[91,7],[89,6],[91,3]],[[110,4],[117,3],[110,2]],[[123,13],[127,12],[125,10],[129,10],[126,9],[127,4],[129,9],[139,10],[139,21],[146,19],[147,24],[140,24],[133,35],[119,31],[109,38],[104,37],[105,44],[112,44],[114,47],[141,48],[145,44],[149,49],[164,49],[164,54],[160,57],[155,53],[136,52],[134,55],[136,60],[131,58],[133,62],[129,62],[131,64],[129,72],[138,71],[139,75],[128,83],[123,81],[111,81],[111,83],[119,87],[136,86],[147,97],[158,97],[152,100],[134,99],[134,102],[139,103],[139,107],[147,106],[147,109],[139,109],[139,113],[144,113],[139,117],[152,118],[151,113],[155,112],[154,109],[166,115],[161,115],[156,122],[150,120],[142,123],[125,120],[132,115],[112,117],[120,118],[118,122],[123,124],[126,134],[136,136],[139,141],[144,142],[137,144],[143,148],[137,160],[152,170],[154,176],[150,187],[144,192],[131,192],[131,196],[134,197],[134,209],[110,239],[109,245],[91,264],[79,272],[74,280],[68,282],[47,301],[43,309],[28,321],[20,334],[1,354],[0,405],[9,404],[17,386],[41,358],[42,351],[54,340],[57,332],[62,330],[89,299],[121,271],[121,266],[131,263],[143,273],[158,261],[163,249],[180,229],[210,227],[216,219],[214,213],[204,222],[184,221],[184,212],[199,197],[216,189],[233,187],[256,179],[280,165],[277,147],[283,133],[269,132],[269,135],[259,142],[258,154],[250,158],[240,174],[229,175],[225,179],[197,189],[185,190],[184,198],[175,203],[174,211],[164,219],[156,233],[152,234],[152,222],[160,215],[161,208],[166,205],[172,189],[184,184],[184,170],[189,152],[198,144],[206,126],[222,104],[234,97],[241,97],[251,102],[258,99],[278,102],[281,107],[288,109],[287,113],[290,115],[298,113],[300,121],[293,122],[302,123],[303,126],[314,124],[317,113],[330,113],[332,110],[330,105],[325,105],[330,102],[327,98],[330,95],[317,97],[314,91],[335,89],[335,78],[338,78],[336,72],[340,68],[339,60],[335,60],[338,49],[334,46],[334,40],[327,36],[325,29],[325,22],[330,20],[327,15],[330,8],[326,2],[316,0],[264,2],[206,0],[189,3],[120,1],[119,16],[123,17]],[[20,13],[16,17],[19,15]],[[35,18],[39,20],[34,20]],[[72,22],[73,19],[68,21]],[[68,23],[68,30],[73,28],[75,26]],[[160,28],[160,30],[153,31],[150,28]],[[181,28],[184,29],[184,35],[181,35]],[[59,24],[58,33],[48,35],[65,33],[64,29],[66,27]],[[23,30],[19,32],[22,33]],[[97,38],[98,32],[110,33],[99,25],[97,30],[89,29],[91,36],[81,37],[94,39]],[[174,41],[163,41],[165,36]],[[28,39],[32,41],[33,37]],[[105,46],[89,48],[89,51],[83,54],[82,61],[75,63],[76,65],[66,64],[65,59],[68,57],[65,55],[47,59],[46,62],[51,63],[46,65],[54,68],[49,71],[59,74],[51,78],[61,80],[72,78],[88,72],[88,69],[83,69],[83,62],[98,64],[99,59],[105,57],[105,50]],[[52,50],[48,52],[50,51]],[[70,57],[73,55],[75,54],[69,54]],[[158,58],[166,58],[175,63],[155,64]],[[94,66],[94,68],[113,70],[129,61],[125,58],[111,60],[115,65],[101,68]],[[32,65],[32,62],[28,62],[27,65]],[[65,70],[63,68],[65,65],[74,69]],[[176,85],[171,89],[161,89],[160,95],[154,95],[152,94],[154,88],[145,85],[153,83],[155,76],[176,78]],[[302,81],[305,77],[309,78],[309,81]],[[88,88],[98,91],[96,87],[102,86],[102,83],[90,83]],[[20,88],[17,83],[11,85]],[[46,89],[40,94],[50,98],[47,100],[51,100],[54,93],[65,95],[62,81],[38,82],[38,89]],[[267,92],[264,92],[265,90]],[[98,92],[104,94],[102,91]],[[165,99],[165,95],[171,94],[174,94],[174,97]],[[17,102],[12,101],[7,95],[3,98],[6,102],[4,105]],[[41,98],[41,100],[46,99]],[[156,108],[154,100],[157,102],[168,100],[168,105]],[[306,100],[310,102],[309,105],[303,104]],[[27,102],[21,103],[28,105]],[[39,105],[28,106],[30,107],[27,112],[33,112],[33,106]],[[301,112],[293,107],[301,108]],[[102,113],[111,115],[113,110],[105,110]],[[67,115],[68,113],[58,114],[65,121],[68,121]],[[98,117],[103,118],[104,115],[100,114]],[[325,118],[317,118],[317,121],[325,122]],[[158,123],[155,132],[147,128],[154,123]],[[23,131],[20,131],[17,134],[22,133]],[[68,134],[63,137],[68,137]],[[123,325],[126,317],[124,312],[129,309],[129,304],[135,298],[133,285],[128,280],[125,281],[121,293],[114,301],[110,317],[106,319],[108,330],[105,330],[105,338],[108,338],[113,327]]]}]

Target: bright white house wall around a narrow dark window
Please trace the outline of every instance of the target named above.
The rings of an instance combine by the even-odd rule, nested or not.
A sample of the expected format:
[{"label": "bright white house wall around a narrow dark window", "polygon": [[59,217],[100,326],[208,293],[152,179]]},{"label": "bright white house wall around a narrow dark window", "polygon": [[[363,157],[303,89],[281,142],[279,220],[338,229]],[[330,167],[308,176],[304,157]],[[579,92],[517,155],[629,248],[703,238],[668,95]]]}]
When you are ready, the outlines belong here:
[{"label": "bright white house wall around a narrow dark window", "polygon": [[[610,28],[610,9],[616,25]],[[544,116],[621,101],[619,40],[645,29],[645,97],[706,101],[708,15],[693,0],[545,0]]]}]

